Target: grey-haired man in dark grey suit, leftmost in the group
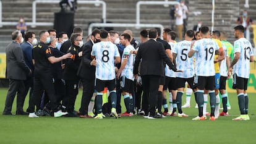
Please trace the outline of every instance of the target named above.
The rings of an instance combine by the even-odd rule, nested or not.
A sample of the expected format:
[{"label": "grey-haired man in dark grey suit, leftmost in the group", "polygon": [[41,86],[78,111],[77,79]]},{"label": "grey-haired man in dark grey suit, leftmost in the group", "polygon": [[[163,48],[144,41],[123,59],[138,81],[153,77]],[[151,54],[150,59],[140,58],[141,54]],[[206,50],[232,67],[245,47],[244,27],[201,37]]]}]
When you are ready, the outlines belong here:
[{"label": "grey-haired man in dark grey suit, leftmost in the group", "polygon": [[6,106],[3,115],[12,115],[12,103],[17,93],[16,114],[25,114],[23,111],[23,97],[25,96],[25,85],[23,80],[31,70],[25,64],[20,43],[23,42],[22,33],[18,30],[12,32],[12,42],[6,48],[6,76],[9,78],[9,90],[6,96]]}]

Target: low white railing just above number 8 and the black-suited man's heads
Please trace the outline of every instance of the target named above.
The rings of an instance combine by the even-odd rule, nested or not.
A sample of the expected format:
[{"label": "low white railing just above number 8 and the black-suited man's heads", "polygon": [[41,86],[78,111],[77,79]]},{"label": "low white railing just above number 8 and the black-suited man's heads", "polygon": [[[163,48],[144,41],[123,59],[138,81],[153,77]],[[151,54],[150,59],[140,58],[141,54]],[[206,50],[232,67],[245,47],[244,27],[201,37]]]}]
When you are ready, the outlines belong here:
[{"label": "low white railing just above number 8 and the black-suited man's heads", "polygon": [[[163,25],[161,24],[137,24],[137,23],[91,23],[88,27],[88,35],[92,33],[93,27],[147,27],[147,28],[160,28],[163,32]],[[162,35],[160,35],[162,38]]]}]

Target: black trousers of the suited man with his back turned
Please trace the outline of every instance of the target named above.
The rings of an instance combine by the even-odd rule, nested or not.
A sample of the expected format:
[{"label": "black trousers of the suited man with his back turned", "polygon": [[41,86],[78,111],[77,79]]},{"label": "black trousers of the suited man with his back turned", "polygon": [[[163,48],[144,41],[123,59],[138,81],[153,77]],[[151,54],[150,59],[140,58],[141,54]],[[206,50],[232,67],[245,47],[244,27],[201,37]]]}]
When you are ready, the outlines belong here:
[{"label": "black trousers of the suited man with his back turned", "polygon": [[154,116],[156,111],[159,79],[158,75],[142,75],[143,91],[145,96],[148,95],[150,116]]}]

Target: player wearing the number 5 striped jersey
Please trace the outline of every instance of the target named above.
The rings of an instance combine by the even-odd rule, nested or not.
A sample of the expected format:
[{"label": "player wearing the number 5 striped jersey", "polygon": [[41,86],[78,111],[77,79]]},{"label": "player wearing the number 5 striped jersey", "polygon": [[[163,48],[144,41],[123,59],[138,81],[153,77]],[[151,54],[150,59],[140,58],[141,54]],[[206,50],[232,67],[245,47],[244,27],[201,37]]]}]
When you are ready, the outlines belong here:
[{"label": "player wearing the number 5 striped jersey", "polygon": [[[194,38],[193,30],[187,30],[185,34],[185,40],[176,44],[173,49],[173,59],[174,64],[176,63],[177,69],[184,70],[183,72],[176,73],[176,85],[177,85],[177,109],[178,109],[178,117],[188,117],[187,114],[182,112],[182,95],[184,93],[185,83],[187,82],[190,87],[196,91],[196,87],[194,85],[194,57],[187,57],[187,53],[189,52],[191,41]],[[196,95],[196,94],[195,94]]]}]

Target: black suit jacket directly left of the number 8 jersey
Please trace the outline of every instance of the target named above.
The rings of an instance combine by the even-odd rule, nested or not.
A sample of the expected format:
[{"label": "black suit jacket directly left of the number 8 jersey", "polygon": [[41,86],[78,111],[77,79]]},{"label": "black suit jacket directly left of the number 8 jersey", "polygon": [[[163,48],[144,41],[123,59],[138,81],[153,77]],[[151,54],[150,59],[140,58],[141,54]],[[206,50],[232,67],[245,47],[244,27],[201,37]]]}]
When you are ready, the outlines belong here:
[{"label": "black suit jacket directly left of the number 8 jersey", "polygon": [[77,71],[77,75],[81,79],[87,79],[87,80],[94,80],[95,79],[95,66],[91,66],[90,63],[92,62],[91,52],[92,52],[92,40],[87,41],[83,45],[83,57],[82,61],[79,66],[79,70]]}]

